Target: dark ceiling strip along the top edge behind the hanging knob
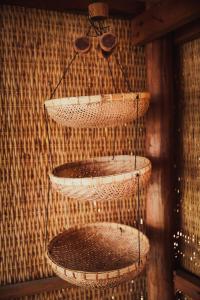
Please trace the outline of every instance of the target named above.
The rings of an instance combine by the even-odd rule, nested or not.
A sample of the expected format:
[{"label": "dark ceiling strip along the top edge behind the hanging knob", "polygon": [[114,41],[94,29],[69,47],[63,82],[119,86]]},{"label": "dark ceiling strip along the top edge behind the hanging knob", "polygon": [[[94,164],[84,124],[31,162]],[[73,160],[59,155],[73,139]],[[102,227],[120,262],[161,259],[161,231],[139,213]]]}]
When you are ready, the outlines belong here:
[{"label": "dark ceiling strip along the top edge behind the hanging knob", "polygon": [[[1,3],[47,10],[85,13],[88,4],[91,2],[89,0],[3,0]],[[145,8],[145,0],[107,0],[104,2],[108,3],[111,15],[132,17],[140,14]]]}]

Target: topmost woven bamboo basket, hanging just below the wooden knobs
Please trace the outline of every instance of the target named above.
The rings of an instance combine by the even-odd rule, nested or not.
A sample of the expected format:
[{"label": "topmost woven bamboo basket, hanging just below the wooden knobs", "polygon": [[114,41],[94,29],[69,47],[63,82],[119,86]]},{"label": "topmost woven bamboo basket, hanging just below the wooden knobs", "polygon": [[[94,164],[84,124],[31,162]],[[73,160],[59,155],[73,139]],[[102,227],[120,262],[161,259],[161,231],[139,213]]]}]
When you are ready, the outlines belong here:
[{"label": "topmost woven bamboo basket, hanging just below the wooden knobs", "polygon": [[[139,96],[139,100],[136,97]],[[145,114],[149,93],[69,97],[45,101],[48,114],[68,127],[104,127],[128,123]]]}]

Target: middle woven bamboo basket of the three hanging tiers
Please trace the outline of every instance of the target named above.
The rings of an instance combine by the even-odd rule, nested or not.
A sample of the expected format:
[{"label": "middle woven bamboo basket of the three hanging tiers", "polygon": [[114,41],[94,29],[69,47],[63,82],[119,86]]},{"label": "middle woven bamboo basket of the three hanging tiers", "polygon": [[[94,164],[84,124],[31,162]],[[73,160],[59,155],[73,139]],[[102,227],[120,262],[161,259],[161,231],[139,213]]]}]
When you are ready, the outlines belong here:
[{"label": "middle woven bamboo basket of the three hanging tiers", "polygon": [[132,155],[105,156],[67,163],[50,174],[54,189],[77,200],[112,200],[131,196],[145,187],[151,175],[151,163],[145,157]]}]

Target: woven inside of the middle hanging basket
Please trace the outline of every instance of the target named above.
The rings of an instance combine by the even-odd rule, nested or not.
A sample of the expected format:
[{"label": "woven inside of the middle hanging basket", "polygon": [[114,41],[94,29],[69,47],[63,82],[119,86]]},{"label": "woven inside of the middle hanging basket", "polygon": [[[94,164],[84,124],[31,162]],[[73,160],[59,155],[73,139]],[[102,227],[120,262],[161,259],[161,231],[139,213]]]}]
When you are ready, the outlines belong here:
[{"label": "woven inside of the middle hanging basket", "polygon": [[63,178],[88,178],[110,176],[122,173],[129,173],[137,169],[146,167],[149,163],[144,157],[115,156],[102,157],[95,160],[87,160],[75,163],[68,163],[54,169],[53,175]]}]

